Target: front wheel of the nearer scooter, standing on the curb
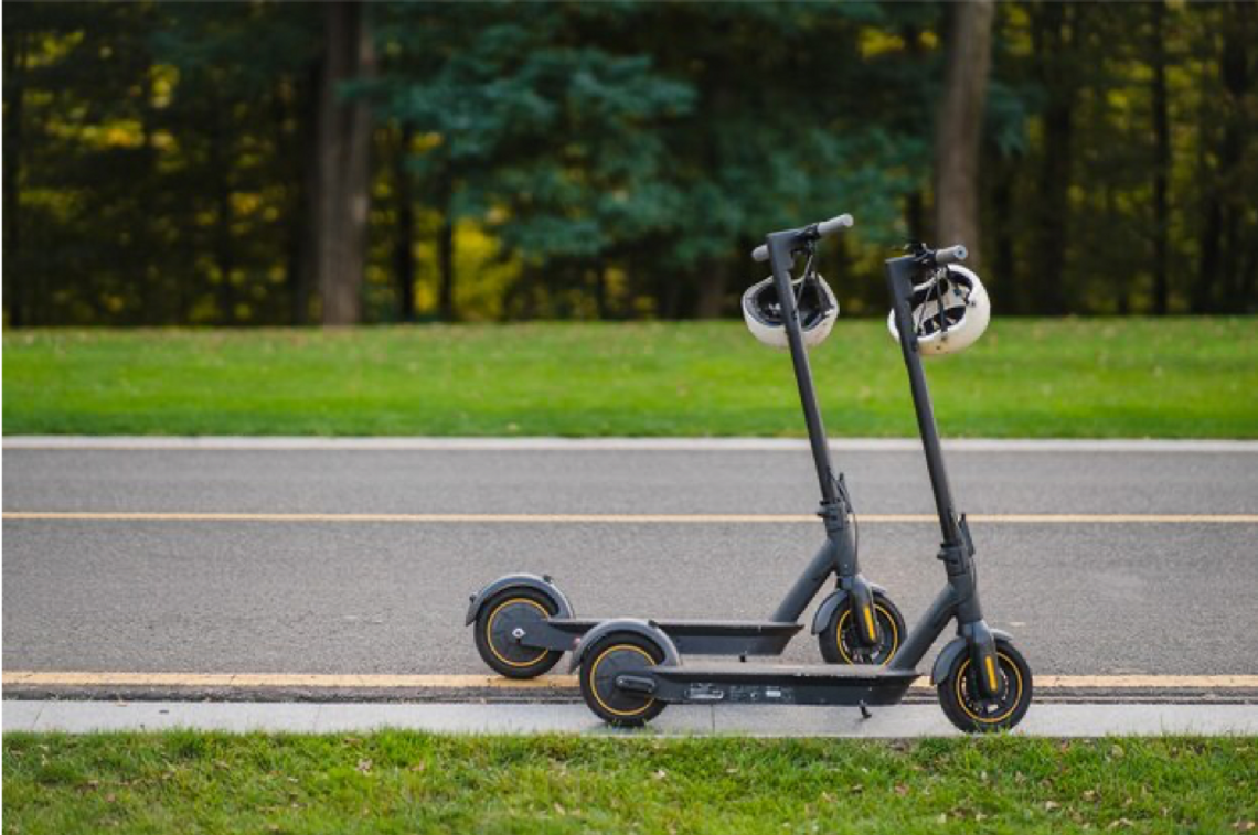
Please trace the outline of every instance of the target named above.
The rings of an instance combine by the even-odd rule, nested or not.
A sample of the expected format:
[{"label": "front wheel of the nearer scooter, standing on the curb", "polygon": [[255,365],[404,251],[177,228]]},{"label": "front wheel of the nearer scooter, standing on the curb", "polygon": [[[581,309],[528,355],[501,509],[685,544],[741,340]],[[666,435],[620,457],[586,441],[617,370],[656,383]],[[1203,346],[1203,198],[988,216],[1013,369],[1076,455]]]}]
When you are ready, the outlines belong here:
[{"label": "front wheel of the nearer scooter, standing on the curb", "polygon": [[944,714],[966,733],[1013,728],[1030,708],[1034,683],[1027,659],[1005,640],[996,640],[996,659],[1000,675],[1005,679],[1005,692],[994,703],[984,703],[977,698],[979,685],[970,653],[961,653],[952,661],[947,677],[936,688]]}]

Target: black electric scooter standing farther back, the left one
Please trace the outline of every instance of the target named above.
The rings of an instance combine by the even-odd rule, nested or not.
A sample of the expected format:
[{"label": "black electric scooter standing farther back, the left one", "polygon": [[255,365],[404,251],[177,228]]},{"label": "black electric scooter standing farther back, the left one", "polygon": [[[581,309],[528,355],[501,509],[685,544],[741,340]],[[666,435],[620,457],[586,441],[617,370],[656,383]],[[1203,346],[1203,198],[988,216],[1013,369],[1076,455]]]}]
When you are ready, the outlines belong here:
[{"label": "black electric scooter standing farther back, the left one", "polygon": [[[811,236],[811,243],[815,243],[850,225],[852,216],[840,215],[814,224],[806,236]],[[801,236],[800,243],[806,236]],[[811,268],[805,273],[804,282],[816,280]],[[791,316],[796,316],[791,285],[789,279],[785,280],[786,284],[777,282],[781,307],[784,312],[790,311]],[[801,284],[799,292],[803,289]],[[825,526],[825,545],[767,620],[659,620],[652,621],[650,629],[663,636],[674,656],[781,655],[803,629],[800,615],[830,575],[834,575],[837,589],[821,601],[813,617],[813,634],[818,635],[821,656],[832,664],[887,664],[903,641],[905,619],[886,590],[860,575],[854,536],[855,517],[843,475],[835,475],[830,467],[825,426],[818,409],[798,316],[789,327],[794,328],[790,331],[790,352],[821,488],[818,516]],[[474,624],[476,648],[484,663],[511,678],[541,675],[594,630],[600,636],[608,635],[606,622],[603,620],[576,617],[572,605],[550,576],[532,573],[499,577],[472,595],[467,624]],[[590,641],[586,641],[585,646],[589,645]]]}]

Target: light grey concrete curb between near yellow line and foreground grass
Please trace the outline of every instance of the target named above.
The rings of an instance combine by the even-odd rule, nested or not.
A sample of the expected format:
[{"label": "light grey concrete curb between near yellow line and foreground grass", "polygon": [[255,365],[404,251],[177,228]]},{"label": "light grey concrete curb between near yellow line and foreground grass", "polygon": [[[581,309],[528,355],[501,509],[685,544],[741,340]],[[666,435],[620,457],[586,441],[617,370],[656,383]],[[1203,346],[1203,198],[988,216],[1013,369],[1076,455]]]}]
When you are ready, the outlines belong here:
[{"label": "light grey concrete curb between near yellow line and foreground grass", "polygon": [[[361,733],[382,728],[433,733],[579,733],[908,738],[959,736],[937,705],[855,708],[671,708],[643,732],[618,733],[582,704],[333,704],[196,702],[0,702],[0,733],[153,732]],[[1037,704],[1020,736],[1253,736],[1252,704]]]}]

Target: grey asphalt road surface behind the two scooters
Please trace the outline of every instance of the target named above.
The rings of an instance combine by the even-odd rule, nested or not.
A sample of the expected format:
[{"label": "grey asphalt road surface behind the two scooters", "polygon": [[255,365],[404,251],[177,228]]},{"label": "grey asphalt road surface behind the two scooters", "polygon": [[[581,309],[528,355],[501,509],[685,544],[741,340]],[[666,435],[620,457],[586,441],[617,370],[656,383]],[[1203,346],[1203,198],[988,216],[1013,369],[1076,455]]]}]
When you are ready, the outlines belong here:
[{"label": "grey asphalt road surface behind the two scooters", "polygon": [[[859,512],[930,513],[920,454],[837,455]],[[1258,513],[1254,451],[952,451],[974,514]],[[0,511],[806,514],[779,451],[0,449]],[[974,526],[984,604],[1048,674],[1258,673],[1258,524]],[[478,673],[468,592],[547,572],[580,615],[762,617],[820,523],[0,519],[0,669]],[[930,523],[867,522],[910,622]],[[788,658],[814,660],[805,634]]]}]

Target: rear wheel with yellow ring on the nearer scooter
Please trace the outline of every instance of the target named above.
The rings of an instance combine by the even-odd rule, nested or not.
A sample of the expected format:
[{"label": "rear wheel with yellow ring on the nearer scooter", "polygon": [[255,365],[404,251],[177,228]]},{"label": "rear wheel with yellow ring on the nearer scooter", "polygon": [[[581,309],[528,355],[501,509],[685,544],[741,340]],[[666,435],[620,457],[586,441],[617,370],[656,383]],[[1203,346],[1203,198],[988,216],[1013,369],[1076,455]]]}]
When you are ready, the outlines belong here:
[{"label": "rear wheel with yellow ring on the nearer scooter", "polygon": [[664,661],[664,650],[637,633],[611,633],[591,646],[581,659],[581,697],[596,717],[618,728],[640,728],[664,707],[659,699],[629,693],[615,685],[615,677],[640,666]]}]

